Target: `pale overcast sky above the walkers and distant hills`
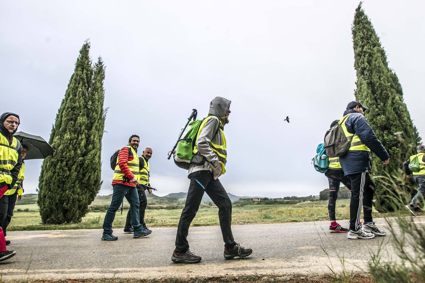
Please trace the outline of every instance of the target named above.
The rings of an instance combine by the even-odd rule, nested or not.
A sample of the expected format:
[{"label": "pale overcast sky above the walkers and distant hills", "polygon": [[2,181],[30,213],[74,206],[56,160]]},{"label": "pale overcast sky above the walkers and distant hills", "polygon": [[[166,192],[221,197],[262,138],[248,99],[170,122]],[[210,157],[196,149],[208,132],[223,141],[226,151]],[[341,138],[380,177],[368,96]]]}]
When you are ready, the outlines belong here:
[{"label": "pale overcast sky above the walkers and distant hills", "polygon": [[[206,117],[215,96],[232,100],[227,173],[220,177],[227,192],[318,194],[328,182],[311,159],[354,100],[358,3],[1,1],[0,112],[16,112],[18,130],[48,140],[79,49],[90,39],[92,59],[102,56],[106,65],[109,107],[99,194],[112,192],[109,159],[131,134],[153,148],[156,194],[187,191],[187,171],[167,152],[191,109]],[[363,8],[424,137],[425,2],[366,0]],[[127,119],[134,107],[139,115]],[[41,163],[26,162],[26,193],[35,193]]]}]

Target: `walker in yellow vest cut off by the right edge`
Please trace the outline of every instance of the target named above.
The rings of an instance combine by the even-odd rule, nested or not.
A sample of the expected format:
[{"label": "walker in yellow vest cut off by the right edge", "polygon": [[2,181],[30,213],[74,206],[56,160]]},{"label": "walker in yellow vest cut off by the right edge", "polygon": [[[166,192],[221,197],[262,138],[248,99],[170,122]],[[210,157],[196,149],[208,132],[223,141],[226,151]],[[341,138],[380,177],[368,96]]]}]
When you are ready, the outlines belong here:
[{"label": "walker in yellow vest cut off by the right edge", "polygon": [[[411,178],[413,175],[413,179],[416,183],[418,183],[418,193],[413,197],[410,204],[405,205],[407,210],[409,210],[410,213],[412,213],[413,216],[416,216],[414,213],[415,209],[421,209],[423,205],[423,196],[425,195],[425,146],[420,145],[416,147],[416,152],[418,154],[414,154],[411,157],[409,157],[408,160],[403,163],[403,169],[407,175],[408,178]],[[412,172],[409,168],[409,164],[411,163],[414,158],[417,157],[419,161],[419,171]]]}]

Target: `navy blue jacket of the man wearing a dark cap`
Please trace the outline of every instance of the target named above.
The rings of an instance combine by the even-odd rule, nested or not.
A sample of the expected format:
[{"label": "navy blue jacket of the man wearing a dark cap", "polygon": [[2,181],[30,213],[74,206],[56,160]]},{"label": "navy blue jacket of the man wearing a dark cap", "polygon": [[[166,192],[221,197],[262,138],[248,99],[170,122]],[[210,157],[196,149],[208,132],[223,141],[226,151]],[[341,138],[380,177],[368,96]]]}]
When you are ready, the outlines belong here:
[{"label": "navy blue jacket of the man wearing a dark cap", "polygon": [[[357,134],[360,140],[367,146],[380,160],[385,161],[390,156],[385,150],[382,143],[377,138],[375,132],[366,121],[365,116],[354,109],[348,109],[344,115],[352,113],[346,120],[347,131],[351,134]],[[341,167],[345,175],[354,175],[363,172],[371,173],[372,164],[369,151],[365,150],[349,150],[340,157]]]}]

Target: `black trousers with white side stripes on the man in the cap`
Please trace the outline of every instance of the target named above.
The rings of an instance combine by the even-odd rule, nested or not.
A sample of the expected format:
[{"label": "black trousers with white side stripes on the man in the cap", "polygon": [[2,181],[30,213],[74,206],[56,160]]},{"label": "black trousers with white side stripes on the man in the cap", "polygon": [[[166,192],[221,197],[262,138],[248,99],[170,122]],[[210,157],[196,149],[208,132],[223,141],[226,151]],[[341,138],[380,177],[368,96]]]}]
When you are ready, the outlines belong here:
[{"label": "black trousers with white side stripes on the man in the cap", "polygon": [[349,175],[351,181],[351,201],[350,201],[350,230],[357,231],[362,213],[363,220],[372,222],[372,201],[375,194],[375,184],[372,182],[370,174],[367,172]]}]

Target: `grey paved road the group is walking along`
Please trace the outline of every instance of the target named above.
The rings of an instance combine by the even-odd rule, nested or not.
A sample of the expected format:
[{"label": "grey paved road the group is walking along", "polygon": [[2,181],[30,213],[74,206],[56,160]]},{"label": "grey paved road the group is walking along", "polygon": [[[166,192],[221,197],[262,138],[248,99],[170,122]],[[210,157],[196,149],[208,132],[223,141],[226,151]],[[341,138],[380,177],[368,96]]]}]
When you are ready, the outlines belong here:
[{"label": "grey paved road the group is walking along", "polygon": [[[385,229],[384,219],[376,219]],[[425,216],[415,221],[425,223]],[[348,221],[340,221],[347,226]],[[154,228],[145,238],[116,230],[118,241],[101,241],[101,230],[8,232],[8,249],[17,255],[0,263],[2,280],[167,278],[322,274],[330,262],[340,269],[336,252],[354,269],[365,266],[369,251],[376,251],[391,235],[370,240],[348,240],[345,233],[328,233],[328,221],[234,225],[238,243],[253,249],[248,258],[223,258],[220,227],[191,227],[190,249],[202,256],[198,264],[171,262],[176,228]],[[323,230],[322,230],[323,229]],[[320,237],[322,240],[320,239]],[[330,260],[321,249],[330,254]],[[387,253],[385,253],[386,255]],[[388,257],[388,255],[387,255]]]}]

